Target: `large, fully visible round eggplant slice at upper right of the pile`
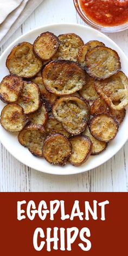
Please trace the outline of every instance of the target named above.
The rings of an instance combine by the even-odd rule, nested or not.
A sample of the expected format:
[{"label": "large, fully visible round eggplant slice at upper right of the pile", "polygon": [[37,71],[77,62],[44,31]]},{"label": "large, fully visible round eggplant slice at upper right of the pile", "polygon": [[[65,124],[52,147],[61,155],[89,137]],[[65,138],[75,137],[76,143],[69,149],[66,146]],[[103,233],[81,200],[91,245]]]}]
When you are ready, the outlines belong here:
[{"label": "large, fully visible round eggplant slice at upper right of the pile", "polygon": [[98,46],[89,50],[85,56],[85,61],[86,72],[98,80],[109,78],[121,68],[118,53],[105,46]]}]

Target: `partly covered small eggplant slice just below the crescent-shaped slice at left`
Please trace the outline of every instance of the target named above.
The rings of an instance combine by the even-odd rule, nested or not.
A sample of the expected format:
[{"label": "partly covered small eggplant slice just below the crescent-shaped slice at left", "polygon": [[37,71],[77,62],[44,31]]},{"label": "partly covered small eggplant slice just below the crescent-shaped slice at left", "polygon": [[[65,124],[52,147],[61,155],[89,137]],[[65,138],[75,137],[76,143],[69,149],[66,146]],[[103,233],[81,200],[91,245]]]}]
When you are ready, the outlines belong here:
[{"label": "partly covered small eggplant slice just below the crescent-shaped slice at left", "polygon": [[36,112],[28,114],[28,118],[33,124],[40,124],[43,126],[46,125],[48,120],[48,112],[45,105],[42,104]]}]

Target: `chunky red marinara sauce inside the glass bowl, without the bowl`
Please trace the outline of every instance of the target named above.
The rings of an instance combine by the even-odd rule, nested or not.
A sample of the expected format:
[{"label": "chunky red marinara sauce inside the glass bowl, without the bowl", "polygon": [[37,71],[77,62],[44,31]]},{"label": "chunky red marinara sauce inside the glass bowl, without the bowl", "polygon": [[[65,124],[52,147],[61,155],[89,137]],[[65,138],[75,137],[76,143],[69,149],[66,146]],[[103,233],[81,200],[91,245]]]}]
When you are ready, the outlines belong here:
[{"label": "chunky red marinara sauce inside the glass bowl, without the bowl", "polygon": [[90,20],[106,27],[128,21],[128,0],[80,0],[80,5]]}]

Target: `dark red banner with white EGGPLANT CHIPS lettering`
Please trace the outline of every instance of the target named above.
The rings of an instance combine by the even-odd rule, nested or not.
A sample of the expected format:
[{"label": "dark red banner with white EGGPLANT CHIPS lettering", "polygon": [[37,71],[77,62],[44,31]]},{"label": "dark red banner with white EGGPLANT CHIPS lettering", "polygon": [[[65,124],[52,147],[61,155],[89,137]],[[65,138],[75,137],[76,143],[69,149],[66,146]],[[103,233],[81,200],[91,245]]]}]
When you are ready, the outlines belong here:
[{"label": "dark red banner with white EGGPLANT CHIPS lettering", "polygon": [[127,193],[1,193],[1,255],[126,255]]}]

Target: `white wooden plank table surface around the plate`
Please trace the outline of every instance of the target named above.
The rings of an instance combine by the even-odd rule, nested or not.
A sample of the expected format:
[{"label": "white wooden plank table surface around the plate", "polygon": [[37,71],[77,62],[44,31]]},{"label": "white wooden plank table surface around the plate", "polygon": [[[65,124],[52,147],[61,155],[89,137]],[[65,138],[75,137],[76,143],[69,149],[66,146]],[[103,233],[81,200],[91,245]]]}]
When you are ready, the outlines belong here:
[{"label": "white wooden plank table surface around the plate", "polygon": [[[76,14],[73,0],[44,0],[0,48],[0,55],[18,36],[41,25],[53,23],[84,24]],[[128,30],[108,36],[128,56]],[[128,142],[110,161],[91,171],[79,175],[55,176],[23,165],[0,145],[0,191],[128,191],[127,147]]]}]

